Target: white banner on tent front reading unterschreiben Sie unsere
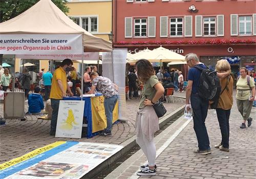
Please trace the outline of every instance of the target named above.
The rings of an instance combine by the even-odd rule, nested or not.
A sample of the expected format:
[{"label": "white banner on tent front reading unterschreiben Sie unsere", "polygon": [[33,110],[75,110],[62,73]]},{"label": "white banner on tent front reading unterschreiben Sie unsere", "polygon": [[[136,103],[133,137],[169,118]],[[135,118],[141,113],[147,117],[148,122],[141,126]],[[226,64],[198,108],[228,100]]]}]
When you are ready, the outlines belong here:
[{"label": "white banner on tent front reading unterschreiben Sie unsere", "polygon": [[80,54],[80,34],[0,35],[0,54]]}]

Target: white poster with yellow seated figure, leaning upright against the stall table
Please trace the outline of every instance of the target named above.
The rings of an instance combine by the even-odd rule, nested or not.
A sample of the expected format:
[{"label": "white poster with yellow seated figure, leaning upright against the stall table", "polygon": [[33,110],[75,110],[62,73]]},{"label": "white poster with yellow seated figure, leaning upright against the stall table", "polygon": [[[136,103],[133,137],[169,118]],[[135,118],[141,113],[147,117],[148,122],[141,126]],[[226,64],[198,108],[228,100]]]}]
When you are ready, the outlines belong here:
[{"label": "white poster with yellow seated figure, leaning upright against the stall table", "polygon": [[81,138],[83,100],[60,100],[55,137]]}]

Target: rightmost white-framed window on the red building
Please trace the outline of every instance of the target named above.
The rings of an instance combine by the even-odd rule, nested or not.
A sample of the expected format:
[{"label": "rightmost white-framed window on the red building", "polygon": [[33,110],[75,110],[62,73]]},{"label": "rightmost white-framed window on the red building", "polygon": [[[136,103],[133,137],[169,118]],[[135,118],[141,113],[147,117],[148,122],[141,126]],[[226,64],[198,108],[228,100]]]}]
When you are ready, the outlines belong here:
[{"label": "rightmost white-framed window on the red building", "polygon": [[251,36],[251,16],[239,16],[239,35]]}]

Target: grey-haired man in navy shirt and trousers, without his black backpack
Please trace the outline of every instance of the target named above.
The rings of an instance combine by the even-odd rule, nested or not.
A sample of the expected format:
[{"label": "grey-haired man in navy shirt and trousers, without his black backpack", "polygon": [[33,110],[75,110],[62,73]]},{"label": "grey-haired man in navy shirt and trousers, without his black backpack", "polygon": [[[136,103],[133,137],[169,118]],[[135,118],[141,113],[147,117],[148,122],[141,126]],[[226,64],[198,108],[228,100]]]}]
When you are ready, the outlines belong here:
[{"label": "grey-haired man in navy shirt and trousers, without his black backpack", "polygon": [[[200,85],[200,75],[201,70],[195,68],[194,66],[199,66],[206,69],[206,66],[199,62],[199,59],[196,54],[190,53],[185,56],[185,60],[190,67],[188,70],[188,84],[186,88],[186,109],[193,110],[193,121],[194,121],[194,130],[196,132],[198,149],[194,152],[196,154],[210,154],[210,142],[205,126],[205,119],[207,117],[209,101],[204,100],[198,94],[198,87]],[[230,72],[217,73],[219,78],[224,78]],[[190,106],[190,102],[191,106]]]}]

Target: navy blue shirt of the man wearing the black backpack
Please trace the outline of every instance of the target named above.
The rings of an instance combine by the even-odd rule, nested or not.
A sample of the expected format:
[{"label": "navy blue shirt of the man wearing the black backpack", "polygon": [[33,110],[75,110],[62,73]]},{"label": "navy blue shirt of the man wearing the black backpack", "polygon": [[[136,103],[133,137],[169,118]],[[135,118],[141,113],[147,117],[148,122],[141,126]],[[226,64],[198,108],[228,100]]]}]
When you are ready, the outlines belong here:
[{"label": "navy blue shirt of the man wearing the black backpack", "polygon": [[[206,66],[203,64],[198,64],[197,66],[206,69]],[[202,71],[200,69],[197,69],[195,67],[192,67],[188,70],[187,80],[193,81],[192,93],[197,93],[197,89],[200,85],[201,72]]]}]

